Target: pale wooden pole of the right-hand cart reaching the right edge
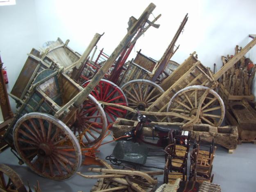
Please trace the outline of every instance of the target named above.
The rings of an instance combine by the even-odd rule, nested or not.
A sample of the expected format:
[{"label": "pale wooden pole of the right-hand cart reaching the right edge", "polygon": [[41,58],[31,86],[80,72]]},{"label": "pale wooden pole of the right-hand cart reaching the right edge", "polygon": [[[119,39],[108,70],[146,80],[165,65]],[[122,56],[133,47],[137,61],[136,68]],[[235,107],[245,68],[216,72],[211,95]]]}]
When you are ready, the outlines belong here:
[{"label": "pale wooden pole of the right-hand cart reaching the right edge", "polygon": [[217,81],[227,70],[229,70],[235,63],[237,63],[254,45],[256,44],[256,38],[248,43],[238,54],[233,56],[213,77]]}]

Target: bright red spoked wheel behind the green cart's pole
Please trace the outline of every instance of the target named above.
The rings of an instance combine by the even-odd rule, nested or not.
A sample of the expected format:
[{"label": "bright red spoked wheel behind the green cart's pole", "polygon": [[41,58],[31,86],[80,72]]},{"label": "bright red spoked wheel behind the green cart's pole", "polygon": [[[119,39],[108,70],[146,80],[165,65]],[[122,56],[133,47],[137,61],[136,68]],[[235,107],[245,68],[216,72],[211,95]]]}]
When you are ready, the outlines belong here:
[{"label": "bright red spoked wheel behind the green cart's pole", "polygon": [[[86,81],[83,86],[86,87],[90,81]],[[128,106],[127,98],[121,88],[105,79],[100,80],[99,84],[91,92],[91,95],[98,101]],[[125,117],[127,114],[127,110],[124,109],[108,105],[102,106],[106,113],[108,124],[116,121],[117,117]]]}]

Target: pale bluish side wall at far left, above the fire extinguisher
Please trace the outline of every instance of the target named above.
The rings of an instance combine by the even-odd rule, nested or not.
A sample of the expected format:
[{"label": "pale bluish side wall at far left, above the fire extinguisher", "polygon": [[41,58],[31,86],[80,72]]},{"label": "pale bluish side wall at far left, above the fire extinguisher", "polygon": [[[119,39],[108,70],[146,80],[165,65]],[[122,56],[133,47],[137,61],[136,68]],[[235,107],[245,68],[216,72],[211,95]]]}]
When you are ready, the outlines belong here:
[{"label": "pale bluish side wall at far left, above the fire extinguisher", "polygon": [[[0,27],[0,54],[7,69],[9,93],[27,53],[39,46],[34,0],[16,0],[16,5],[0,6]],[[14,111],[15,102],[11,98],[10,102]]]}]

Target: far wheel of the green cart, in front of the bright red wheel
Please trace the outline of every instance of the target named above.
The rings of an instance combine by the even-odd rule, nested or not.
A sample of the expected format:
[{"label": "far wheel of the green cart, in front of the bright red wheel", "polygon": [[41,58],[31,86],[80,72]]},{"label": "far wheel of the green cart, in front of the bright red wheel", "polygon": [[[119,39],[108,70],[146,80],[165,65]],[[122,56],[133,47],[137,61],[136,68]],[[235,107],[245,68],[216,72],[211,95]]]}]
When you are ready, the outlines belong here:
[{"label": "far wheel of the green cart, in front of the bright red wheel", "polygon": [[106,128],[105,112],[100,103],[90,94],[77,112],[76,121],[70,129],[84,145],[92,145],[103,138]]}]

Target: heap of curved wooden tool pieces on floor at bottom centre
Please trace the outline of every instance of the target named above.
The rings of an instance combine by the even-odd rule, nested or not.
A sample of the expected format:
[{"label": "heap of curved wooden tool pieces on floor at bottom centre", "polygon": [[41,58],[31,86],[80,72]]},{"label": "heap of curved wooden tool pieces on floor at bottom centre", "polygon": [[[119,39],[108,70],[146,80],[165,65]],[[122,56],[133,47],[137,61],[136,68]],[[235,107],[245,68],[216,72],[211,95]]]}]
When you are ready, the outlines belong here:
[{"label": "heap of curved wooden tool pieces on floor at bottom centre", "polygon": [[91,189],[91,192],[151,192],[156,190],[157,185],[157,178],[154,178],[153,176],[163,174],[163,171],[141,172],[134,170],[113,169],[113,167],[104,160],[98,160],[106,168],[89,168],[88,170],[102,174],[84,175],[77,172],[77,174],[85,178],[99,178]]}]

